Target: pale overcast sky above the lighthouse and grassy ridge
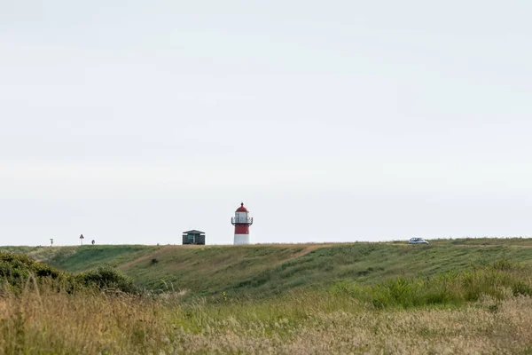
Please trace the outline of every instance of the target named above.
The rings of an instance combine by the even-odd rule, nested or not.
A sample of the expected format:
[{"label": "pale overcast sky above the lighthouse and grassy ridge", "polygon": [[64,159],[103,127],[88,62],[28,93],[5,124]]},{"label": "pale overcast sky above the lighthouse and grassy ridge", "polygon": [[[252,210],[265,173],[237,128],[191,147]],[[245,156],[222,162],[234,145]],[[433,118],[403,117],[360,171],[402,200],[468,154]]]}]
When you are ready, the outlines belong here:
[{"label": "pale overcast sky above the lighthouse and grassy ridge", "polygon": [[532,236],[531,13],[0,0],[0,244]]}]

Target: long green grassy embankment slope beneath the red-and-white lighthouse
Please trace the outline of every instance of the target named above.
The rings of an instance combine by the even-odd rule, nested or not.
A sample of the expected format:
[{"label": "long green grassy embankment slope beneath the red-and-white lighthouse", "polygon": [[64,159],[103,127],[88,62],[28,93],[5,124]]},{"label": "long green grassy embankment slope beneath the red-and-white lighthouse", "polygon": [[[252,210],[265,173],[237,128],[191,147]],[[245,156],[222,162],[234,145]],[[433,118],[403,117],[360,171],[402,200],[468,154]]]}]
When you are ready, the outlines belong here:
[{"label": "long green grassy embankment slope beneath the red-and-white lighthouse", "polygon": [[279,244],[248,246],[82,246],[0,247],[82,272],[101,264],[117,267],[138,284],[187,290],[196,296],[262,298],[303,287],[343,280],[374,284],[404,277],[426,277],[494,264],[532,264],[532,239],[464,239],[405,242]]}]

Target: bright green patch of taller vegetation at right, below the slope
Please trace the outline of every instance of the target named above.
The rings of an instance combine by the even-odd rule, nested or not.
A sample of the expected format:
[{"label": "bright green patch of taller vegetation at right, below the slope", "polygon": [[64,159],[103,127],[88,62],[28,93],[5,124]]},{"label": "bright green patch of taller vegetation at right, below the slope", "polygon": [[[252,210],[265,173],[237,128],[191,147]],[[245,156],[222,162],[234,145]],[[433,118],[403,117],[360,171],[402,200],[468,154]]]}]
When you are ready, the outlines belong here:
[{"label": "bright green patch of taller vegetation at right, below the slope", "polygon": [[532,296],[528,272],[506,260],[489,267],[464,272],[446,272],[432,278],[403,277],[375,285],[348,281],[330,288],[334,296],[350,296],[373,308],[411,308],[431,305],[460,305],[477,301],[482,295],[497,300],[513,296]]}]

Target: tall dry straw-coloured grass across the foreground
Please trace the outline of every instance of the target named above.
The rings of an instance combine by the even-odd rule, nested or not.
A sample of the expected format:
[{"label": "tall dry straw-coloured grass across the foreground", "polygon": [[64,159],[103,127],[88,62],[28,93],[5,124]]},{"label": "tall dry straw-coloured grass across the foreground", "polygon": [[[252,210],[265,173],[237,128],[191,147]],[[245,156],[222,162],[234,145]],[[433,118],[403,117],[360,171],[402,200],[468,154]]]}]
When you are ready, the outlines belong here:
[{"label": "tall dry straw-coloured grass across the foreground", "polygon": [[376,310],[313,292],[180,304],[178,296],[67,294],[32,279],[0,296],[0,353],[530,353],[532,299],[500,292],[460,308]]}]

